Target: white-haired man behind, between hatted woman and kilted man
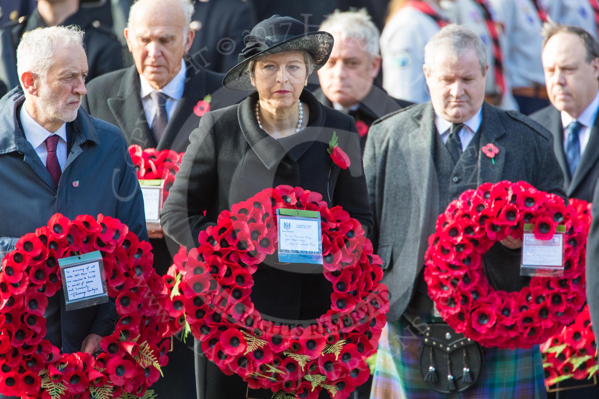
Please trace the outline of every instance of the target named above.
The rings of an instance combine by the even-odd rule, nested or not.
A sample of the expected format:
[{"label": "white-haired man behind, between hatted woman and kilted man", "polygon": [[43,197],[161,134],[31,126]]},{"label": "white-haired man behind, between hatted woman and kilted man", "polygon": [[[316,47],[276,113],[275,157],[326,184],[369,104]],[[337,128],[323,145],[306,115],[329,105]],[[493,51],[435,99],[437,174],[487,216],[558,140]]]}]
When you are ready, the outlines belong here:
[{"label": "white-haired man behind, between hatted woman and kilted man", "polygon": [[335,44],[328,61],[318,70],[320,88],[313,94],[324,105],[355,118],[364,152],[370,125],[412,103],[394,99],[374,84],[380,71],[380,32],[365,8],[335,10],[319,31],[331,33]]}]

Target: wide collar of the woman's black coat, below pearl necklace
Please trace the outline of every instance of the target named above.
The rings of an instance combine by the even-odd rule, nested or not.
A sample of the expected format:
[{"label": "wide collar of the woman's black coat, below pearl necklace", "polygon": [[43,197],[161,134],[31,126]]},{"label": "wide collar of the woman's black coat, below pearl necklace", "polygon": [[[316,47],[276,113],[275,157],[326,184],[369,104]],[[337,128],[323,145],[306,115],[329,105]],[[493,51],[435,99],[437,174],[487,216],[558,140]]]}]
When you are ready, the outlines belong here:
[{"label": "wide collar of the woman's black coat, below pearl necklace", "polygon": [[[308,105],[310,120],[308,120],[308,126],[298,133],[302,135],[301,142],[289,151],[285,151],[279,141],[272,138],[258,126],[254,112],[258,93],[252,93],[237,108],[241,133],[243,133],[252,150],[268,170],[276,169],[285,155],[288,155],[293,162],[297,162],[315,141],[324,141],[324,138],[319,140],[322,127],[325,124],[323,105],[307,90],[301,93],[299,99]],[[328,139],[326,139],[326,142],[328,142]]]}]

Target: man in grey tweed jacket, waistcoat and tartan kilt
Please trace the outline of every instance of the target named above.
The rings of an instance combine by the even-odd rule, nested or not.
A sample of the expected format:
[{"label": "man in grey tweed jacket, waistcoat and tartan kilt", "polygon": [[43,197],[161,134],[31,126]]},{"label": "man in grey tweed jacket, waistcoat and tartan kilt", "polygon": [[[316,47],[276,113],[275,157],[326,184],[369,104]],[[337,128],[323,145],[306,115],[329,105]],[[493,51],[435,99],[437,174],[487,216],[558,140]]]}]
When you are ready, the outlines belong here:
[{"label": "man in grey tweed jacket, waistcoat and tartan kilt", "polygon": [[[374,212],[371,239],[391,297],[372,398],[446,397],[437,392],[453,398],[545,396],[538,346],[484,352],[471,347],[463,360],[461,351],[452,357],[450,365],[444,354],[433,358],[432,349],[429,359],[428,347],[420,352],[428,327],[431,334],[433,328],[445,329],[442,340],[447,334],[459,338],[449,326],[431,324],[442,319],[435,317],[423,278],[428,237],[447,205],[465,190],[503,180],[527,181],[564,196],[550,133],[524,115],[484,101],[486,60],[475,33],[453,24],[441,29],[425,47],[423,71],[431,100],[381,118],[368,133],[364,169]],[[494,163],[480,150],[488,143],[499,150]],[[509,236],[484,255],[485,276],[498,290],[527,285],[519,273],[521,245]],[[424,378],[427,368],[431,376]]]}]

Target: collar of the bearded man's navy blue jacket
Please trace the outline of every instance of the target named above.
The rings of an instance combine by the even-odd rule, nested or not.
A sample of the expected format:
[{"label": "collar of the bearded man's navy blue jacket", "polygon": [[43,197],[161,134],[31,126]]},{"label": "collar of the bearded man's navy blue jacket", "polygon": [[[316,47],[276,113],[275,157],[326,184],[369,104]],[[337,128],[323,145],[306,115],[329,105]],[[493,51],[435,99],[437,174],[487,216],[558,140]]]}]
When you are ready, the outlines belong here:
[{"label": "collar of the bearded man's navy blue jacket", "polygon": [[[6,154],[13,151],[25,153],[25,135],[21,132],[17,118],[17,108],[25,101],[25,95],[20,86],[11,90],[0,103],[0,124],[4,129],[0,130],[0,154]],[[98,132],[93,126],[92,118],[79,108],[77,118],[71,123],[74,143],[83,144],[86,141],[93,141],[100,144]]]}]

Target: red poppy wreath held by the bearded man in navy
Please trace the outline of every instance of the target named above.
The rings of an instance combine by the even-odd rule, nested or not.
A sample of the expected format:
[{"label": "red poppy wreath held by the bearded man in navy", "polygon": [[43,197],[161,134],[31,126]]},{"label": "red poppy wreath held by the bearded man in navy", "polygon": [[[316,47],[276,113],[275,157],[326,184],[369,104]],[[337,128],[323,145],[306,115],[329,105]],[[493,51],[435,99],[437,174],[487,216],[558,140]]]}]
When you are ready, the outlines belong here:
[{"label": "red poppy wreath held by the bearded man in navy", "polygon": [[[177,332],[177,321],[165,310],[167,290],[152,267],[151,249],[102,214],[72,221],[55,214],[47,226],[20,237],[0,272],[0,392],[26,399],[154,397],[147,388],[168,363],[170,341],[162,339]],[[44,339],[43,316],[48,298],[62,288],[58,260],[93,251],[101,251],[119,321],[96,358],[60,354]]]}]

